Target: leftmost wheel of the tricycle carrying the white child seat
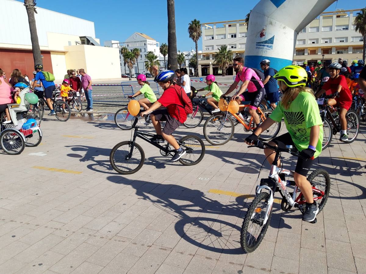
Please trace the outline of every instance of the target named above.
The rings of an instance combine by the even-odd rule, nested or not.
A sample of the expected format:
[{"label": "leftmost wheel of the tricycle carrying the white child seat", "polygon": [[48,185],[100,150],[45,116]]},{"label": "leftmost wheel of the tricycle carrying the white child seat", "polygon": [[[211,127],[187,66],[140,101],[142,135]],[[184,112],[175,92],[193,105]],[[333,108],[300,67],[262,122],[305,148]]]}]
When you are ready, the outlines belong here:
[{"label": "leftmost wheel of the tricycle carrying the white child seat", "polygon": [[0,145],[4,152],[10,155],[22,153],[25,144],[23,137],[14,129],[3,130],[0,134]]}]

